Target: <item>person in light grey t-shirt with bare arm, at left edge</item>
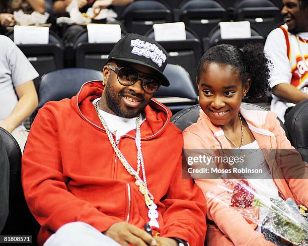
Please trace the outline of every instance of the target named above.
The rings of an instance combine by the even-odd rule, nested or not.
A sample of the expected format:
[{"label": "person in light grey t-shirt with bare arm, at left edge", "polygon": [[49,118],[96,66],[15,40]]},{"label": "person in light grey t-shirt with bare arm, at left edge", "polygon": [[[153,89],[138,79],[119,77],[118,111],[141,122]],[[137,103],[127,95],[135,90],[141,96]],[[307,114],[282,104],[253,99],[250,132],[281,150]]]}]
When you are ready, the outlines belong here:
[{"label": "person in light grey t-shirt with bare arm, at left edge", "polygon": [[37,107],[33,80],[38,76],[16,44],[0,35],[0,127],[14,136],[22,152],[28,136],[22,123]]}]

